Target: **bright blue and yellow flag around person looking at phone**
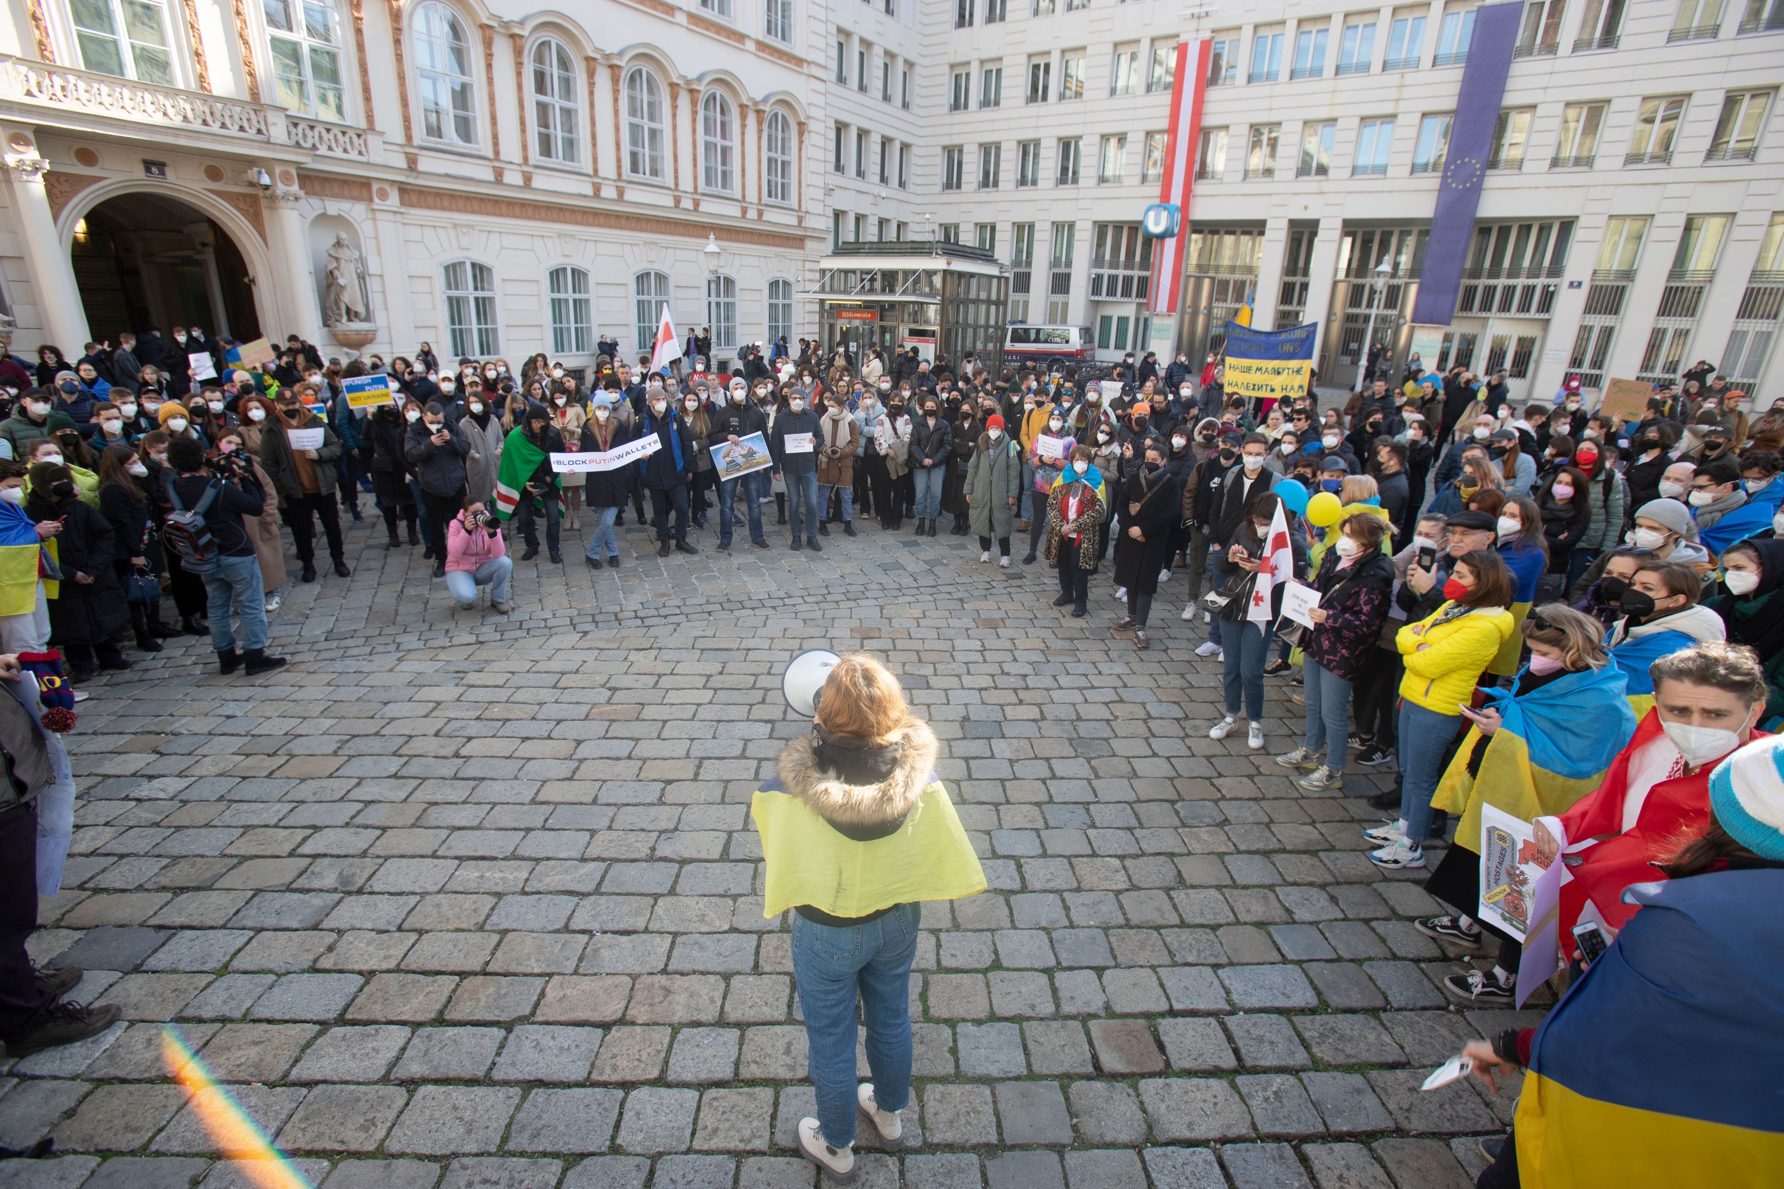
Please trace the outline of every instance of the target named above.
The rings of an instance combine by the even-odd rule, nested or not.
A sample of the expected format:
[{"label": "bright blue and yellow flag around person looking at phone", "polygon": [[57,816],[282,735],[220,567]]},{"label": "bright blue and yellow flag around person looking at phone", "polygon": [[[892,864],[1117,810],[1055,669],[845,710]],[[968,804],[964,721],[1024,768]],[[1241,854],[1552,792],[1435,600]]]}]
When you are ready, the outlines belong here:
[{"label": "bright blue and yellow flag around person looking at phone", "polygon": [[1636,733],[1636,715],[1625,697],[1627,677],[1616,665],[1586,668],[1513,697],[1488,690],[1488,709],[1504,718],[1468,774],[1468,758],[1481,738],[1468,727],[1431,804],[1461,815],[1456,843],[1479,850],[1481,806],[1490,804],[1520,822],[1563,813],[1598,788],[1616,752]]}]

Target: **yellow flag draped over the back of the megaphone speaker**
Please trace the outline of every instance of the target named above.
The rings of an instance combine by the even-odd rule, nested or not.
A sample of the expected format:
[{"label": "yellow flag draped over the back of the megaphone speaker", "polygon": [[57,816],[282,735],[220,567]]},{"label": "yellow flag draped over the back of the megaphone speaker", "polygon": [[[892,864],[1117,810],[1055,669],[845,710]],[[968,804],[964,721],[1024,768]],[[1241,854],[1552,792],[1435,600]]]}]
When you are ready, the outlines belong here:
[{"label": "yellow flag draped over the back of the megaphone speaker", "polygon": [[762,916],[806,904],[831,916],[867,916],[894,904],[958,900],[985,891],[954,802],[931,781],[894,834],[855,841],[792,793],[758,790],[749,804],[767,859]]}]

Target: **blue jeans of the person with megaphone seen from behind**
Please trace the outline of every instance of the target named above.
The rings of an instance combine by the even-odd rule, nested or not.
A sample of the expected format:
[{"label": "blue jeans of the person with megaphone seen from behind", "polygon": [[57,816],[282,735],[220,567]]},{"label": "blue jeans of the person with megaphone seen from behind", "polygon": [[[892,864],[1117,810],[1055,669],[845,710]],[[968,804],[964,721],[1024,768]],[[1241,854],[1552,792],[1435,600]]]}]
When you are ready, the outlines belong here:
[{"label": "blue jeans of the person with megaphone seen from behind", "polygon": [[792,975],[805,1011],[817,1121],[838,1148],[855,1143],[855,996],[867,1025],[867,1068],[881,1111],[910,1103],[910,963],[922,906],[901,904],[837,929],[792,914]]}]

